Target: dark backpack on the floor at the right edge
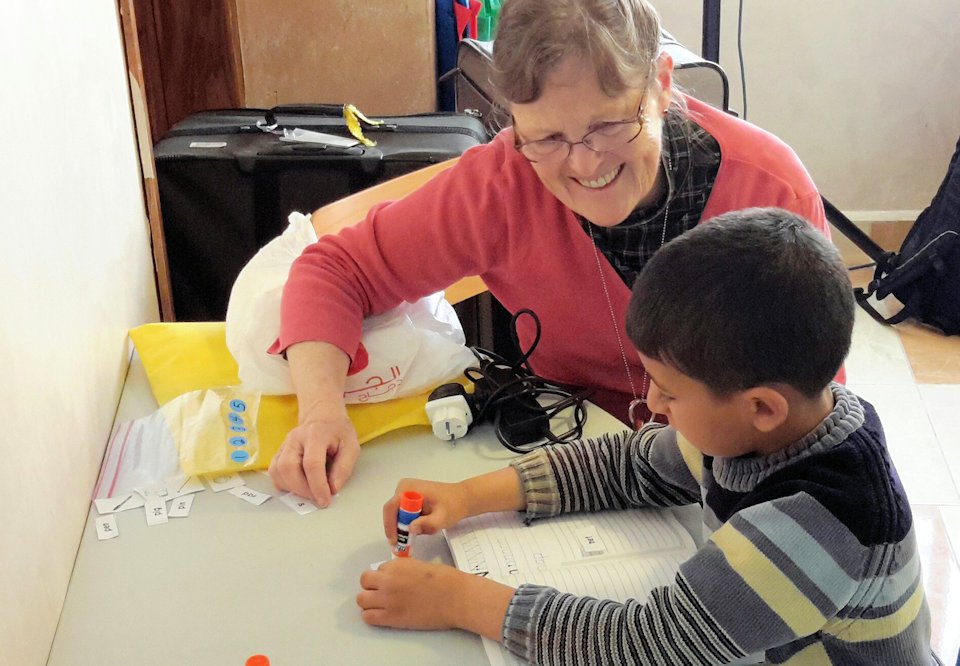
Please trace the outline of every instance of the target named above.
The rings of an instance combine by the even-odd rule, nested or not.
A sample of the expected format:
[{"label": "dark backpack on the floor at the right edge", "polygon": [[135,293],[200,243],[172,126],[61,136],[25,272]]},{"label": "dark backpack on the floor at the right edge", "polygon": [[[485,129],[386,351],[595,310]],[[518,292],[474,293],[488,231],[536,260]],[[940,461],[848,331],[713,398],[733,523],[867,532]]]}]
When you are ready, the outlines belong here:
[{"label": "dark backpack on the floor at the right edge", "polygon": [[[877,321],[914,319],[946,335],[960,334],[960,141],[947,175],[930,205],[910,228],[899,252],[877,245],[826,199],[827,219],[876,262],[866,289],[854,289],[857,303]],[[903,309],[884,317],[869,302],[893,294]]]}]

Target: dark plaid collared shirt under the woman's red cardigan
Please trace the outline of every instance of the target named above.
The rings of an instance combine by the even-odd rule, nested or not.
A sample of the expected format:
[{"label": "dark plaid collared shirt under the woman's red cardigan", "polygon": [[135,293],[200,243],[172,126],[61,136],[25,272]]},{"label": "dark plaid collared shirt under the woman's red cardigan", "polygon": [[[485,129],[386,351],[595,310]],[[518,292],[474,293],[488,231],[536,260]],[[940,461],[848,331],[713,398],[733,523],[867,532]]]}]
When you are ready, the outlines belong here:
[{"label": "dark plaid collared shirt under the woman's red cardigan", "polygon": [[[669,151],[673,170],[664,167],[670,185],[658,202],[634,209],[614,227],[598,227],[578,216],[584,232],[589,234],[592,228],[597,249],[617,269],[628,287],[633,286],[637,273],[660,249],[661,239],[669,242],[700,222],[720,169],[720,146],[716,139],[676,111],[670,111],[664,122],[663,151],[664,155]],[[666,164],[666,157],[661,161]],[[667,196],[670,210],[664,220]]]}]

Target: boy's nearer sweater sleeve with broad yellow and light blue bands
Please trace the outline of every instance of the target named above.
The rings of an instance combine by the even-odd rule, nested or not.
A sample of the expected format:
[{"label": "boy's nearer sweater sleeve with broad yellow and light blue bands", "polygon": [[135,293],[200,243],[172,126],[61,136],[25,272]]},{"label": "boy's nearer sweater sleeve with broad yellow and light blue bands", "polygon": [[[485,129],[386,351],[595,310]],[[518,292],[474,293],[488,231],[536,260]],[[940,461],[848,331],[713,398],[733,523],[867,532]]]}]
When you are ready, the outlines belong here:
[{"label": "boy's nearer sweater sleeve with broad yellow and light blue bands", "polygon": [[[797,495],[736,514],[681,566],[673,585],[643,601],[523,585],[507,607],[503,642],[531,663],[729,663],[821,630],[853,631],[852,619],[834,618],[851,599],[864,604],[860,612],[876,603],[858,591],[877,593],[861,576],[877,580],[880,572],[864,574],[864,564],[880,559],[821,505]],[[913,616],[884,610],[904,632],[916,631]],[[778,659],[791,656],[783,649]]]}]

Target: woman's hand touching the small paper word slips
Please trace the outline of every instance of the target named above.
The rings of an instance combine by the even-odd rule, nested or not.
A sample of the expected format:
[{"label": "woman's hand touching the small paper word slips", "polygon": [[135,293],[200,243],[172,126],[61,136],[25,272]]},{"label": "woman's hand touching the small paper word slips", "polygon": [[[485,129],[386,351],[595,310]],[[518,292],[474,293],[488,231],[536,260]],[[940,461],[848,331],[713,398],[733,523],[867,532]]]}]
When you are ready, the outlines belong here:
[{"label": "woman's hand touching the small paper word slips", "polygon": [[342,404],[314,409],[287,433],[268,473],[279,490],[326,507],[350,478],[359,455],[357,431]]}]

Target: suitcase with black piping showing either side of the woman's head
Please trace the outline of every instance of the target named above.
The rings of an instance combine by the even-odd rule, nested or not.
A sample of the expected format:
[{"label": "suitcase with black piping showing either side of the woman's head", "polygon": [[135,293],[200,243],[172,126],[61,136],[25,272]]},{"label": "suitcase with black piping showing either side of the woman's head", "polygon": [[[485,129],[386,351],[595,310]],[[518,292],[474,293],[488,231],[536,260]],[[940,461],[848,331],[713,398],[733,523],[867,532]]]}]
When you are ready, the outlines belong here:
[{"label": "suitcase with black piping showing either side of the woman's head", "polygon": [[[660,47],[673,57],[677,85],[700,101],[730,110],[730,84],[720,65],[704,60],[684,47],[669,32],[660,36]],[[510,124],[510,116],[497,104],[490,83],[493,42],[463,39],[457,45],[457,66],[441,77],[453,77],[457,110],[483,120],[492,134]]]}]

